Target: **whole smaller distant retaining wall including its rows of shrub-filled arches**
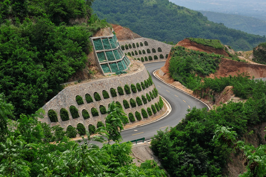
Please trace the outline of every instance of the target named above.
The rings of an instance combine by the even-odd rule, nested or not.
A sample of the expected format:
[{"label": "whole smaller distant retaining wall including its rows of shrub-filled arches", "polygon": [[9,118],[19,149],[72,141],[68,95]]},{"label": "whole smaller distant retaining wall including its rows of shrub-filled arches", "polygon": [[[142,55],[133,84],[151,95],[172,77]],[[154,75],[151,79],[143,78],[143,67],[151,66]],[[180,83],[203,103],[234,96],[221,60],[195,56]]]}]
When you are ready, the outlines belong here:
[{"label": "whole smaller distant retaining wall including its rows of shrub-filled arches", "polygon": [[[171,48],[174,47],[173,45],[144,37],[132,40],[118,40],[118,43],[121,46],[122,52],[127,55],[130,53],[132,58],[138,59],[142,62],[166,60]],[[126,45],[128,46],[128,49],[126,49]],[[143,51],[145,51],[145,54]],[[150,51],[150,53],[148,53],[148,51]],[[151,58],[149,58],[149,56]],[[155,56],[157,56],[157,59]]]}]

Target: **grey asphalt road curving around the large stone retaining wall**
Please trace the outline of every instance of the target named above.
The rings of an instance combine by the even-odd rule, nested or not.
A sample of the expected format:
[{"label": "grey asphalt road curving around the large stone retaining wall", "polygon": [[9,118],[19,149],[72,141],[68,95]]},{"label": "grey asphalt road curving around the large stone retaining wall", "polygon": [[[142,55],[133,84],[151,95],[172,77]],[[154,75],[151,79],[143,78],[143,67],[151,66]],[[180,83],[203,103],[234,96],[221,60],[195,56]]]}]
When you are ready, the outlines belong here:
[{"label": "grey asphalt road curving around the large stone retaining wall", "polygon": [[138,126],[131,129],[126,129],[121,132],[123,141],[128,142],[136,139],[140,139],[145,137],[145,141],[150,140],[155,134],[157,134],[157,130],[165,130],[167,127],[176,126],[182,118],[185,118],[187,114],[187,109],[189,108],[205,108],[206,104],[199,101],[198,99],[175,89],[159,79],[153,76],[153,71],[161,68],[165,64],[165,61],[146,63],[145,67],[152,77],[152,81],[158,90],[159,94],[163,96],[171,105],[172,112],[158,121]]}]

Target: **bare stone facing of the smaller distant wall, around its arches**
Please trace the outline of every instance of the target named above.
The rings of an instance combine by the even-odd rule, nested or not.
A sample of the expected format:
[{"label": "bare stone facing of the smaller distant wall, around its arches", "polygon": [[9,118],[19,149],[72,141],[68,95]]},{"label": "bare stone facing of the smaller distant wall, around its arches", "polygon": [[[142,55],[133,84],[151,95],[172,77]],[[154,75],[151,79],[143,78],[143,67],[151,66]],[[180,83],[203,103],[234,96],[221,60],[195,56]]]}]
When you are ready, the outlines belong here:
[{"label": "bare stone facing of the smaller distant wall, around its arches", "polygon": [[[145,41],[148,42],[148,46],[144,45]],[[141,42],[143,43],[143,46],[142,47],[141,46],[137,47],[136,43],[139,43],[139,45],[140,45]],[[134,59],[137,59],[137,58],[141,59],[141,57],[143,57],[143,58],[147,57],[148,58],[148,56],[152,57],[152,60],[148,60],[148,61],[145,61],[145,62],[152,62],[152,61],[156,61],[156,60],[158,60],[158,61],[166,60],[167,58],[165,58],[165,56],[167,54],[169,54],[170,51],[171,51],[171,48],[174,47],[173,45],[166,44],[164,42],[160,42],[160,41],[157,41],[157,40],[154,40],[154,39],[144,38],[144,37],[137,38],[137,39],[132,39],[132,40],[118,40],[118,43],[120,44],[120,46],[122,46],[122,45],[125,46],[125,44],[127,44],[127,45],[131,44],[131,46],[132,46],[132,44],[135,43],[136,48],[132,47],[131,49],[128,48],[128,49],[122,50],[122,52],[124,52],[126,54],[128,52],[131,53],[132,51],[135,52],[135,50],[138,53],[139,53],[139,50],[141,50],[141,52],[143,50],[145,50],[146,54],[131,56]],[[158,48],[159,47],[162,49],[162,52],[158,52]],[[156,53],[152,53],[152,48],[154,48],[156,50]],[[150,50],[149,54],[147,53],[147,49]],[[164,59],[160,59],[160,54],[162,54],[164,56]],[[158,57],[158,59],[156,59],[156,60],[154,60],[154,56],[155,55],[157,55],[157,57]]]}]

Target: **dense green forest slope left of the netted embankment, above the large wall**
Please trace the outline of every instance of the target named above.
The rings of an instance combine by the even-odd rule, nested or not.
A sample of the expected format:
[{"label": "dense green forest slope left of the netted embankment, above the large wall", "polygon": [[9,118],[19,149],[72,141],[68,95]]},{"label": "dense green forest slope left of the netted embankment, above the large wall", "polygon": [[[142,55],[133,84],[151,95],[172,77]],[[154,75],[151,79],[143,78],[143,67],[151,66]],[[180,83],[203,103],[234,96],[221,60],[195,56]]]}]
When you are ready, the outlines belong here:
[{"label": "dense green forest slope left of the netted embankment, above the large wall", "polygon": [[87,0],[0,2],[0,92],[14,115],[32,114],[85,67],[89,37],[108,24]]}]

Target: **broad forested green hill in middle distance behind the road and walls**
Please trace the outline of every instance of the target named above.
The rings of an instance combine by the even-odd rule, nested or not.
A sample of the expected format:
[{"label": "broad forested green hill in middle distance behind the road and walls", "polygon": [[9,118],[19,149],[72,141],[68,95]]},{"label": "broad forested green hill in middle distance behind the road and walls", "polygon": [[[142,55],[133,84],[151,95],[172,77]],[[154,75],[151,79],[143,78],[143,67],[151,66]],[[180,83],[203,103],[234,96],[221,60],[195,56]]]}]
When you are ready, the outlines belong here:
[{"label": "broad forested green hill in middle distance behind the road and walls", "polygon": [[266,37],[210,22],[200,12],[169,0],[95,0],[92,8],[101,19],[159,41],[177,43],[186,37],[219,39],[244,51],[266,41]]}]

